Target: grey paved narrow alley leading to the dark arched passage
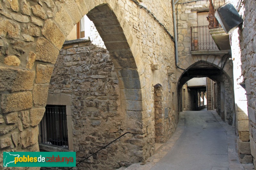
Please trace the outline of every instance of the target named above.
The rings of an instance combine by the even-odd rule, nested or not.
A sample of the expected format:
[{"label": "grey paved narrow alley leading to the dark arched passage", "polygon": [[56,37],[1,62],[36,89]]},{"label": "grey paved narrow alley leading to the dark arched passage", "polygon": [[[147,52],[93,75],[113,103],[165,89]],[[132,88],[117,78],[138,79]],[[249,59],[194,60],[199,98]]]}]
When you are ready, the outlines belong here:
[{"label": "grey paved narrow alley leading to the dark arched passage", "polygon": [[180,112],[177,130],[168,142],[161,145],[146,162],[126,169],[253,169],[252,164],[239,162],[235,142],[235,128],[223,122],[216,112]]}]

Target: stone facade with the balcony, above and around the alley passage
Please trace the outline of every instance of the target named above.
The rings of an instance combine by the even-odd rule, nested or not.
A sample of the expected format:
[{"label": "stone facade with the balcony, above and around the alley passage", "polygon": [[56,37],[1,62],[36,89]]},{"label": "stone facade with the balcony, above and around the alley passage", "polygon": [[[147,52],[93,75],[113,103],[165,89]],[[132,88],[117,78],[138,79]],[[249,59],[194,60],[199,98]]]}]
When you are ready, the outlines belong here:
[{"label": "stone facade with the balcony, above and around the alley passage", "polygon": [[[220,75],[211,76],[210,78],[219,82],[217,89],[220,91],[220,82],[224,84],[223,92],[225,93],[225,99],[217,100],[216,111],[221,115],[224,121],[227,121],[230,125],[233,122],[233,63],[228,60],[231,56],[228,51],[217,50],[194,50],[191,48],[191,27],[197,26],[197,15],[200,12],[209,11],[209,1],[198,1],[185,3],[187,1],[179,1],[176,4],[177,9],[177,22],[178,22],[178,52],[179,62],[178,66],[182,69],[189,70],[193,66],[198,64],[208,67],[214,66],[221,70]],[[214,1],[215,8],[223,5],[224,1]],[[206,20],[206,18],[205,18]],[[209,23],[206,24],[206,26]],[[207,26],[208,27],[208,26]],[[204,35],[205,36],[205,35]],[[226,62],[225,62],[226,61]],[[206,67],[207,68],[207,67]],[[184,70],[177,69],[176,80],[180,81],[181,76],[186,72]],[[179,87],[181,88],[181,87]],[[179,89],[178,89],[179,90]],[[219,92],[220,94],[220,92]],[[220,97],[220,96],[219,96]],[[221,102],[225,100],[225,102]],[[225,103],[224,107],[221,107],[221,103]]]}]

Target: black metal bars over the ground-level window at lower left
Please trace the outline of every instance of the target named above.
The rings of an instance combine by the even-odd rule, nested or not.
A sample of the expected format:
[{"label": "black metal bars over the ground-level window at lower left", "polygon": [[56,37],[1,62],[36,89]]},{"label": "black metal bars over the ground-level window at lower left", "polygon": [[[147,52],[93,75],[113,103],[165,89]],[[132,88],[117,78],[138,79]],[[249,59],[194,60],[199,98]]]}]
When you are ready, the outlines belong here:
[{"label": "black metal bars over the ground-level window at lower left", "polygon": [[68,148],[66,106],[46,105],[41,121],[41,142]]}]

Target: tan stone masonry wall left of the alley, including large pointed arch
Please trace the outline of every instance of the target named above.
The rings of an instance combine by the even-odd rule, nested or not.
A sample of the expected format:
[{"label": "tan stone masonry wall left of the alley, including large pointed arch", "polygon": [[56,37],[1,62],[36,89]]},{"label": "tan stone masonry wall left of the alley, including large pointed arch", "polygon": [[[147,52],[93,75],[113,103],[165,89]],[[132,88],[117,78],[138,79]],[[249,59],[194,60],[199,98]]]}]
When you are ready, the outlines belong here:
[{"label": "tan stone masonry wall left of the alley, including large pointed arch", "polygon": [[[143,5],[152,10],[159,22],[173,35],[172,17],[170,17],[172,8],[169,1],[152,0]],[[1,154],[5,151],[39,151],[38,124],[44,115],[49,87],[53,88],[49,83],[54,64],[67,35],[85,14],[93,21],[104,41],[108,52],[103,50],[99,53],[104,53],[107,61],[104,60],[101,70],[95,68],[89,71],[92,75],[96,74],[95,70],[98,71],[98,75],[94,75],[96,77],[91,77],[94,82],[81,82],[80,77],[70,84],[71,79],[66,75],[67,81],[63,80],[61,82],[63,84],[60,85],[64,88],[62,90],[56,88],[55,92],[68,93],[74,97],[71,97],[71,103],[74,105],[71,106],[74,109],[73,115],[68,115],[69,118],[73,116],[71,120],[74,128],[81,129],[85,125],[103,127],[106,124],[103,120],[107,119],[113,124],[106,125],[109,129],[106,134],[92,132],[79,136],[83,132],[74,130],[73,137],[77,139],[79,136],[79,139],[73,140],[73,149],[76,151],[87,149],[86,146],[82,146],[82,140],[88,144],[101,146],[113,137],[121,135],[122,132],[132,132],[132,135],[128,136],[129,139],[123,139],[124,148],[118,146],[117,149],[113,149],[127,151],[126,155],[132,157],[125,159],[118,156],[119,154],[123,156],[122,152],[117,152],[112,158],[118,160],[115,160],[113,163],[115,165],[112,166],[118,166],[117,162],[120,163],[119,166],[127,166],[147,159],[155,150],[153,86],[156,84],[162,85],[165,100],[163,107],[168,108],[170,132],[167,134],[171,135],[175,131],[178,111],[174,81],[174,42],[147,11],[131,0],[0,0]],[[67,48],[61,50],[61,53],[67,51],[71,56],[73,50],[74,48]],[[76,50],[79,52],[78,49]],[[85,50],[90,51],[86,48]],[[73,64],[78,64],[84,59],[83,56],[80,59],[77,55],[72,55],[73,58],[69,58],[70,56],[63,59],[67,65],[60,74],[77,73],[81,76],[81,71],[86,71],[87,68],[81,65],[74,69],[77,65]],[[114,66],[108,63],[110,58]],[[92,61],[92,67],[93,62],[100,62],[99,58]],[[70,70],[67,70],[68,67]],[[104,75],[104,72],[108,74]],[[108,76],[113,79],[105,81],[108,78],[104,79],[104,77]],[[92,99],[87,98],[89,95],[87,91],[75,91],[81,85],[90,85],[90,93],[94,95]],[[102,96],[104,89],[107,88],[109,88],[106,95],[108,98],[105,99]],[[82,94],[81,98],[77,98],[80,94]],[[82,107],[88,109],[86,113],[76,112]],[[99,109],[100,113],[108,114],[98,115],[96,109]],[[119,121],[121,119],[122,121]],[[104,165],[104,161],[112,162],[112,159],[107,157],[110,152],[112,151],[101,153],[99,159],[95,158],[101,162],[100,166]],[[84,154],[85,152],[78,152],[77,156]],[[121,163],[122,160],[127,162]],[[0,157],[0,162],[2,161],[3,157]],[[97,169],[97,167],[92,168]]]}]

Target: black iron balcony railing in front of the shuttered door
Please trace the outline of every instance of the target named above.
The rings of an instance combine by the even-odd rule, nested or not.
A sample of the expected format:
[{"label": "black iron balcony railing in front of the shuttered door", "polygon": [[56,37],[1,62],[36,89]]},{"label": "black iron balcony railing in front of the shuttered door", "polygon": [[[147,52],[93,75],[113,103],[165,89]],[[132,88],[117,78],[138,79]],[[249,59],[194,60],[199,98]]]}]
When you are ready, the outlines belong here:
[{"label": "black iron balcony railing in front of the shuttered door", "polygon": [[208,26],[191,27],[191,51],[218,49]]}]

